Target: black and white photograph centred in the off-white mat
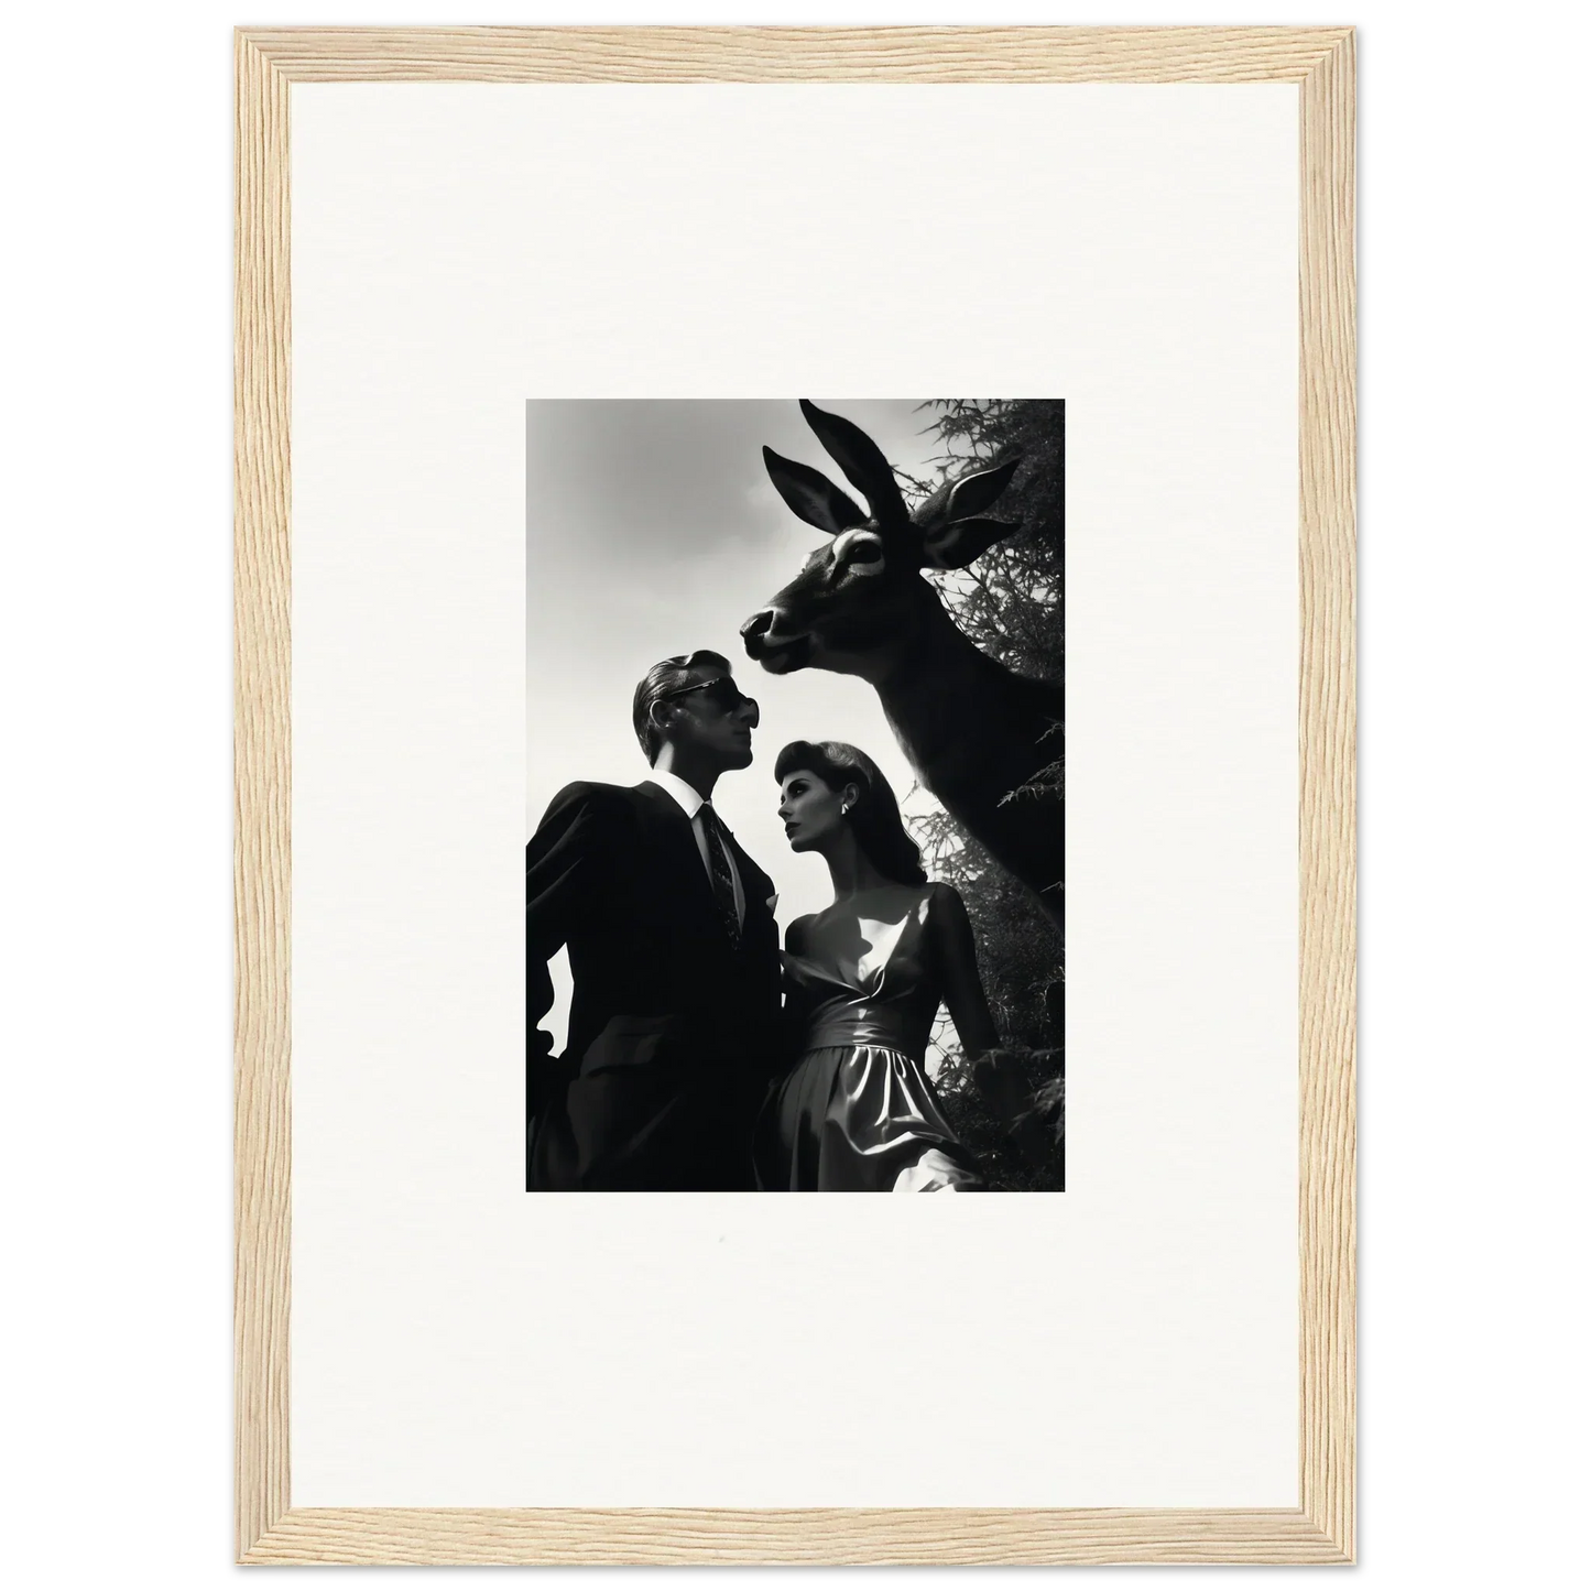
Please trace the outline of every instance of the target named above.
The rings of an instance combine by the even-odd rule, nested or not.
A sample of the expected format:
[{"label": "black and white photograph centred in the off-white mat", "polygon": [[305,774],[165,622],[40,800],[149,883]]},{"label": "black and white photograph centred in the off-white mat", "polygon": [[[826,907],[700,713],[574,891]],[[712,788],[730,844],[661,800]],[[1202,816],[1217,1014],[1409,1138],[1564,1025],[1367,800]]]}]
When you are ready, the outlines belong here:
[{"label": "black and white photograph centred in the off-white mat", "polygon": [[1063,1192],[1064,401],[527,404],[528,1192]]}]

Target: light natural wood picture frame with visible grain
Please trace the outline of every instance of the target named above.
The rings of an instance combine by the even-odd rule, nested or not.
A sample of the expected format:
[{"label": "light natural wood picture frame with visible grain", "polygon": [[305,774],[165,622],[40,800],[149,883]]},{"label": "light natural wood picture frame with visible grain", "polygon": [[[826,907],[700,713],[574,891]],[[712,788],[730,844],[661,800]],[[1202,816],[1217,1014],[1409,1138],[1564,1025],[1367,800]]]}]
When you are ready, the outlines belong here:
[{"label": "light natural wood picture frame with visible grain", "polygon": [[[1356,59],[1330,25],[253,25],[234,137],[234,1543],[239,1566],[1348,1566],[1357,1476]],[[293,1508],[290,84],[1295,83],[1300,1413],[1284,1510]],[[1344,1577],[1346,1578],[1346,1577]]]}]

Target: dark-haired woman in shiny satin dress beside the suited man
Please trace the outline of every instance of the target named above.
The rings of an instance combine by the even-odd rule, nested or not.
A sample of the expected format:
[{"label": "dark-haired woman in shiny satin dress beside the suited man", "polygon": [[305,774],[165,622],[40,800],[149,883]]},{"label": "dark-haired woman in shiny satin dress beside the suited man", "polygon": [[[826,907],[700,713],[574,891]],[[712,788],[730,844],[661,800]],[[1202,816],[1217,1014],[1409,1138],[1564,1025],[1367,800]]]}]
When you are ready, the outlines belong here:
[{"label": "dark-haired woman in shiny satin dress beside the suited man", "polygon": [[[834,904],[784,937],[786,1018],[800,1060],[757,1122],[759,1185],[772,1192],[969,1193],[986,1184],[956,1141],[924,1069],[940,1002],[972,1076],[1029,1160],[1047,1134],[978,980],[972,926],[950,885],[929,883],[873,760],[799,740],[775,764],[791,850],[829,864]],[[1021,1120],[1020,1120],[1021,1118]]]}]

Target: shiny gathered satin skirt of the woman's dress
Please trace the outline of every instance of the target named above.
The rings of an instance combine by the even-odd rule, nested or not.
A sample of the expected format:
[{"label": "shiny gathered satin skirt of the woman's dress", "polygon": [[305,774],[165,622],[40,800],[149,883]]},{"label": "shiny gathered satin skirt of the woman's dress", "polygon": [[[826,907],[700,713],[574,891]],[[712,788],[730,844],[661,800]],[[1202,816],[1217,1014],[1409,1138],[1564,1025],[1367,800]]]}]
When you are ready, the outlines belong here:
[{"label": "shiny gathered satin skirt of the woman's dress", "polygon": [[983,1190],[921,1064],[883,1045],[808,1050],[757,1122],[757,1185],[775,1193]]}]

